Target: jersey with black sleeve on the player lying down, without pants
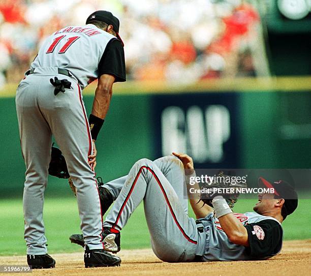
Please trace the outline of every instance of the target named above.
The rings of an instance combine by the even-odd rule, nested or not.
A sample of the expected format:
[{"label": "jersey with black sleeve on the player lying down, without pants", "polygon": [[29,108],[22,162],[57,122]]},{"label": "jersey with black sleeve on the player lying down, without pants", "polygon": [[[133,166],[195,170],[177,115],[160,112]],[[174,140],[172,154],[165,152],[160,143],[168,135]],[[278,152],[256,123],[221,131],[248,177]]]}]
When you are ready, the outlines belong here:
[{"label": "jersey with black sleeve on the player lying down, without pants", "polygon": [[[276,219],[261,216],[256,212],[234,213],[234,216],[246,227],[251,247],[232,243],[222,230],[219,220],[213,216],[213,213],[210,213],[204,219],[197,220],[198,227],[202,226],[203,232],[206,234],[205,250],[202,258],[200,258],[201,261],[261,260],[268,259],[281,251],[283,230],[281,223]],[[264,225],[261,223],[263,221]],[[266,225],[272,225],[279,233],[271,243],[268,240],[271,238],[268,235],[270,229],[265,228]],[[276,244],[273,245],[272,243]],[[266,247],[266,252],[263,254],[259,252],[258,246]]]}]

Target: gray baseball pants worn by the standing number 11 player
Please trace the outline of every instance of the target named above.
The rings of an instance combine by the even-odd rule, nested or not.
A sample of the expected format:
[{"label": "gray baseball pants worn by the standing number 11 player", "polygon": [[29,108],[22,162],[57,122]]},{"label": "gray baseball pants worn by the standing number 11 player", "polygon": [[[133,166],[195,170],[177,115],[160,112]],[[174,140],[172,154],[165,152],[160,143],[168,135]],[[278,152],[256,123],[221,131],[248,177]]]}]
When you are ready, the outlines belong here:
[{"label": "gray baseball pants worn by the standing number 11 player", "polygon": [[[55,87],[50,83],[54,76],[68,79],[72,88],[54,96]],[[79,85],[72,78],[59,75],[57,68],[36,68],[17,88],[16,110],[26,165],[23,210],[27,254],[47,253],[42,212],[52,135],[65,156],[77,190],[85,243],[89,249],[102,249],[100,199],[95,172],[88,164],[92,142]]]}]

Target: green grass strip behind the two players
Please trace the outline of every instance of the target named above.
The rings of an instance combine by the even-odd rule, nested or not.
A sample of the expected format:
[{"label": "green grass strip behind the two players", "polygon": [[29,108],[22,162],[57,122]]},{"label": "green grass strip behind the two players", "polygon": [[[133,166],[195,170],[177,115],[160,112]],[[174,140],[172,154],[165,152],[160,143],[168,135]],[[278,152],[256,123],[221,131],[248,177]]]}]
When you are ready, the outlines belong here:
[{"label": "green grass strip behind the two players", "polygon": [[[255,200],[241,199],[234,211],[251,211],[254,203]],[[286,240],[311,238],[309,203],[309,200],[300,200],[295,213],[283,223]],[[194,217],[192,211],[190,215]],[[47,198],[44,205],[44,223],[50,253],[82,251],[81,247],[70,243],[68,239],[71,234],[80,233],[80,219],[75,198]],[[0,201],[0,255],[25,254],[23,228],[22,200],[2,199]],[[123,229],[121,246],[122,249],[150,247],[142,205],[133,213],[129,223]]]}]

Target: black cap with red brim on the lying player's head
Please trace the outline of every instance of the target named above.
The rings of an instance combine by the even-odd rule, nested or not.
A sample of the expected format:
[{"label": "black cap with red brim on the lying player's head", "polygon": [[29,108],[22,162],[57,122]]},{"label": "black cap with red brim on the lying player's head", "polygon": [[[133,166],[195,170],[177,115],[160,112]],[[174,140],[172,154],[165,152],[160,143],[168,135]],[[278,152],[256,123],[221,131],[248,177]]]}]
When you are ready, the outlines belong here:
[{"label": "black cap with red brim on the lying player's head", "polygon": [[277,180],[271,183],[265,178],[259,177],[258,184],[261,187],[274,188],[274,195],[285,199],[283,206],[285,207],[286,215],[295,211],[298,206],[298,195],[290,183],[284,180]]}]

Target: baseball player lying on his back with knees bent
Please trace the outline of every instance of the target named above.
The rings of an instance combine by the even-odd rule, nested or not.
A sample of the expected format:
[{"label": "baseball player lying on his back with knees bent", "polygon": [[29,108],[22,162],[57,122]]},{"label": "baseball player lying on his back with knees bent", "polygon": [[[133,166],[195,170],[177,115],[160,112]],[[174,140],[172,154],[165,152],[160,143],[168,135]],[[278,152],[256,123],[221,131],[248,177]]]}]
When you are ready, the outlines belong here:
[{"label": "baseball player lying on his back with knees bent", "polygon": [[[297,194],[287,182],[271,184],[260,178],[275,194],[260,194],[254,212],[233,213],[217,194],[210,198],[213,208],[190,198],[195,220],[188,216],[183,192],[184,177],[189,182],[194,174],[192,158],[174,154],[155,161],[141,159],[127,176],[100,187],[102,195],[106,194],[103,213],[115,200],[104,222],[105,250],[120,251],[120,231],[143,201],[152,250],[163,261],[262,260],[281,251],[281,223],[298,204]],[[70,240],[84,246],[80,234]]]}]

